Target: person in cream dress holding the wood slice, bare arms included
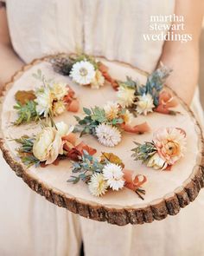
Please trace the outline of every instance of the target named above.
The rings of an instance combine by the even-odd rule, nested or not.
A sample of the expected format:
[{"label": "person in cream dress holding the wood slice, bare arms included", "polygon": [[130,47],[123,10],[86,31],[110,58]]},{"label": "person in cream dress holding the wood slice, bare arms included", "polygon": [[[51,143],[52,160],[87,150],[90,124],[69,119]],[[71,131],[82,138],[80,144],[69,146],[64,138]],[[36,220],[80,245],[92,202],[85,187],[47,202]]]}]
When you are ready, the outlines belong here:
[{"label": "person in cream dress holding the wood slice, bare arms included", "polygon": [[[162,61],[174,69],[169,87],[203,125],[196,87],[203,10],[203,0],[0,1],[0,86],[24,63],[76,49],[148,72]],[[154,25],[163,23],[155,20],[163,17],[165,26]],[[159,28],[169,30],[161,34]],[[88,256],[204,255],[203,191],[175,217],[112,226],[49,203],[17,179],[0,157],[0,255],[79,255],[82,241]]]}]

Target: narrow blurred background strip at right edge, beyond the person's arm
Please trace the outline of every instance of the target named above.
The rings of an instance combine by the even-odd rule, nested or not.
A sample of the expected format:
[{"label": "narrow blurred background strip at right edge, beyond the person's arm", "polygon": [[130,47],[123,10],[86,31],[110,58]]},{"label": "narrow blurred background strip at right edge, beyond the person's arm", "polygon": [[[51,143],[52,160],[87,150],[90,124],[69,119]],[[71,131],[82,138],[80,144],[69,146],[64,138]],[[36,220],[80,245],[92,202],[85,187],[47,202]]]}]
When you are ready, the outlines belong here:
[{"label": "narrow blurred background strip at right edge, beyond the person's arm", "polygon": [[200,56],[200,76],[199,76],[199,86],[201,94],[202,108],[204,108],[204,19],[202,23],[202,33],[201,33],[201,56]]}]

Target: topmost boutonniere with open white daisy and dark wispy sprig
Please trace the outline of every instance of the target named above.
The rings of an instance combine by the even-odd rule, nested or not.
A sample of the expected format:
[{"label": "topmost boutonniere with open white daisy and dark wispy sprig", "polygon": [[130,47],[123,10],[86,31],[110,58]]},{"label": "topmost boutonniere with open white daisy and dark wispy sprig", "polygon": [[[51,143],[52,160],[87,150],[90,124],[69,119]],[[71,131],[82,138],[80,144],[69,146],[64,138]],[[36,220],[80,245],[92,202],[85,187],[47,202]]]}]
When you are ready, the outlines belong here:
[{"label": "topmost boutonniere with open white daisy and dark wispy sprig", "polygon": [[108,73],[108,68],[93,56],[86,54],[58,55],[51,59],[54,70],[62,75],[69,75],[73,82],[80,85],[91,86],[99,89],[104,86],[105,80],[112,86],[117,82]]}]

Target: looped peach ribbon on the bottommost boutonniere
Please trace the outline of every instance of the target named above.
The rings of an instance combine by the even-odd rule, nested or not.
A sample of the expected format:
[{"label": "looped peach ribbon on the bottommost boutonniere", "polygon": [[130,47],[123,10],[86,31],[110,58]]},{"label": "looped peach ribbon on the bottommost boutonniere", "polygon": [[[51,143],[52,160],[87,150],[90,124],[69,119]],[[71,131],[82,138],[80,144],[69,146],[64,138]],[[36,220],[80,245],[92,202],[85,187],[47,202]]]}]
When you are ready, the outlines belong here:
[{"label": "looped peach ribbon on the bottommost boutonniere", "polygon": [[[130,188],[133,191],[136,191],[137,188],[141,187],[143,183],[147,181],[147,178],[144,175],[137,174],[134,176],[133,172],[128,169],[124,169],[124,186]],[[142,177],[142,181],[140,181],[139,177]]]}]

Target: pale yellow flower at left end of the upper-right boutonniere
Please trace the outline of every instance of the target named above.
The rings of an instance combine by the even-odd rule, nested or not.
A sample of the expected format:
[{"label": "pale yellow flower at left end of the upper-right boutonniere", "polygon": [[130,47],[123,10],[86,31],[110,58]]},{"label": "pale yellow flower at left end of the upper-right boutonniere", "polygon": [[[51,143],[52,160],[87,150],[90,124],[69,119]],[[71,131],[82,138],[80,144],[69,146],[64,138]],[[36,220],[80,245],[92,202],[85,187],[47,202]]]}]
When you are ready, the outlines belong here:
[{"label": "pale yellow flower at left end of the upper-right boutonniere", "polygon": [[117,92],[118,101],[123,107],[131,107],[135,100],[135,90],[120,86]]}]

